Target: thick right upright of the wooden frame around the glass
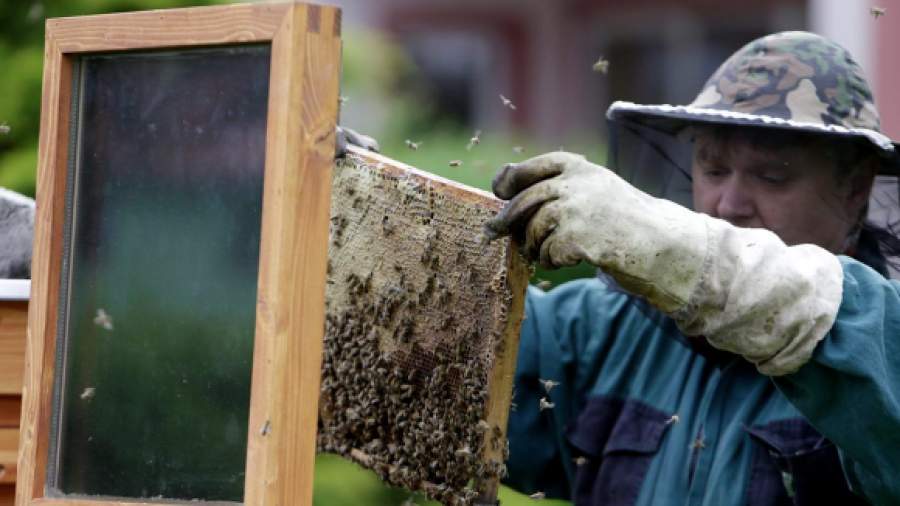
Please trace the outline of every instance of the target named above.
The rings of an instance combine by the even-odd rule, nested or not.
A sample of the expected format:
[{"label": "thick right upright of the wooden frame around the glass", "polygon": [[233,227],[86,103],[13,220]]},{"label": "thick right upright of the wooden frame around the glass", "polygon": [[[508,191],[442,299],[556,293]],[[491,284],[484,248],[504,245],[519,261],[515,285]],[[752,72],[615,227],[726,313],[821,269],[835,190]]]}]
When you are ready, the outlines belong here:
[{"label": "thick right upright of the wooden frame around the glass", "polygon": [[247,504],[312,503],[339,27],[297,6],[272,43]]}]

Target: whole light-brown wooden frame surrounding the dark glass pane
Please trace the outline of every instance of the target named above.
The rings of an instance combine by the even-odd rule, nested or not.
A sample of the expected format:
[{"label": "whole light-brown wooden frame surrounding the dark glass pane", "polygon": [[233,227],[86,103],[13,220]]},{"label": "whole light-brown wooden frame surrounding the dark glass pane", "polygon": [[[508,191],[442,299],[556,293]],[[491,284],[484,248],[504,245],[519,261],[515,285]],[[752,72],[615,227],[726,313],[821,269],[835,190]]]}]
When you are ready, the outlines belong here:
[{"label": "whole light-brown wooden frame surrounding the dark glass pane", "polygon": [[243,43],[271,44],[244,504],[312,502],[340,11],[284,3],[47,21],[18,506],[145,504],[45,490],[73,66],[89,53]]}]

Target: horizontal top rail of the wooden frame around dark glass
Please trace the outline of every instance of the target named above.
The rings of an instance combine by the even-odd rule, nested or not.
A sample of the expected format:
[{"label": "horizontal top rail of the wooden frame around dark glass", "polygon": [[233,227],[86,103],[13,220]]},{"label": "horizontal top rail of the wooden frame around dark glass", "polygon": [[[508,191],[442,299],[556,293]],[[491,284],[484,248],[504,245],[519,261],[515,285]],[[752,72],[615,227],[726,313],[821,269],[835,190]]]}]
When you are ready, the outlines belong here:
[{"label": "horizontal top rail of the wooden frame around dark glass", "polygon": [[63,53],[269,41],[290,4],[245,4],[47,20]]}]

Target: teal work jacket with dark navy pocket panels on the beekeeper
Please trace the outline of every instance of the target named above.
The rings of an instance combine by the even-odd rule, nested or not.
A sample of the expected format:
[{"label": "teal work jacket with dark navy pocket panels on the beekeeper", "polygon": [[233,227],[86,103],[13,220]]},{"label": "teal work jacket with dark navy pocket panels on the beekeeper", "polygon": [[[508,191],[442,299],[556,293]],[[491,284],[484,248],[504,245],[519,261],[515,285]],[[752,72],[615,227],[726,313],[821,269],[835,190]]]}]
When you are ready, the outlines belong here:
[{"label": "teal work jacket with dark navy pocket panels on the beekeeper", "polygon": [[603,280],[529,289],[507,483],[576,504],[900,504],[900,283],[840,259],[834,326],[776,378]]}]

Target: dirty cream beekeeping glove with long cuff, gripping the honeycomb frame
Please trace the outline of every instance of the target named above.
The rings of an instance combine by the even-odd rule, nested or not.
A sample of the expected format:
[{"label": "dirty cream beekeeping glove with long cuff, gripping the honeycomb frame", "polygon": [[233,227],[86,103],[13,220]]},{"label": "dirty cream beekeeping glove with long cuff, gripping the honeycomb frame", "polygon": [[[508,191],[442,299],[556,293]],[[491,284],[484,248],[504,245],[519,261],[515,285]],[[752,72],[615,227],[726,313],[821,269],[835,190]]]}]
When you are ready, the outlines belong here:
[{"label": "dirty cream beekeeping glove with long cuff, gripping the honeycomb frame", "polygon": [[764,374],[806,363],[834,323],[843,271],[818,246],[653,198],[572,153],[509,164],[493,189],[511,200],[486,223],[489,238],[516,236],[548,267],[591,263]]}]

